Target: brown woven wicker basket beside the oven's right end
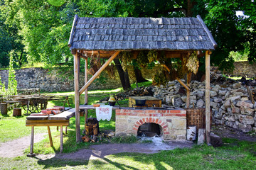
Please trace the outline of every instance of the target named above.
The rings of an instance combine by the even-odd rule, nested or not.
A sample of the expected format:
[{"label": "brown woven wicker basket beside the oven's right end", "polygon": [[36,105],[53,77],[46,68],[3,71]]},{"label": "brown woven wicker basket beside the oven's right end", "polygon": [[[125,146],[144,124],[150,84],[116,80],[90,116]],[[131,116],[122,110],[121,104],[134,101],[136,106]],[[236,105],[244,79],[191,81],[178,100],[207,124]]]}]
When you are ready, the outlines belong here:
[{"label": "brown woven wicker basket beside the oven's right end", "polygon": [[[184,108],[186,110],[187,127],[196,125],[196,128],[206,128],[206,108]],[[210,111],[210,125],[212,123]]]}]

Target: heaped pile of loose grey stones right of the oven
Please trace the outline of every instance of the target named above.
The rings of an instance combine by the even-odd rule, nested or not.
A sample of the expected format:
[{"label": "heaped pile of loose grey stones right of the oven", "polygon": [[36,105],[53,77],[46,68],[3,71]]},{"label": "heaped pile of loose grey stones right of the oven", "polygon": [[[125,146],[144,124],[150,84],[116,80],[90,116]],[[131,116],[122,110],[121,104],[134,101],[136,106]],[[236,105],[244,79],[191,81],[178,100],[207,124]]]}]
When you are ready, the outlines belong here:
[{"label": "heaped pile of loose grey stones right of the oven", "polygon": [[[183,82],[186,82],[182,80]],[[252,90],[255,87],[250,86]],[[186,90],[178,81],[169,81],[166,86],[155,86],[154,97],[166,105],[186,108]],[[191,81],[190,107],[205,107],[205,81]],[[256,132],[256,102],[249,99],[247,88],[241,82],[228,80],[210,84],[210,108],[213,123],[227,125],[242,132]]]}]

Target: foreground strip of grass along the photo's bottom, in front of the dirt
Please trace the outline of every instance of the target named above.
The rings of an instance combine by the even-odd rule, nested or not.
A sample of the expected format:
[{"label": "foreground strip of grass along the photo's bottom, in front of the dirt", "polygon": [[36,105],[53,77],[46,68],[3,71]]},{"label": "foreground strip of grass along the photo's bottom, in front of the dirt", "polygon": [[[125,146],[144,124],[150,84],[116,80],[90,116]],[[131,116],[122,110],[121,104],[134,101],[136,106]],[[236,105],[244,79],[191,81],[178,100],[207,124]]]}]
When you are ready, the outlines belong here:
[{"label": "foreground strip of grass along the photo's bottom, in front of the dirt", "polygon": [[121,153],[103,159],[0,158],[0,169],[255,169],[253,142],[223,139],[223,147],[196,146],[156,154]]}]

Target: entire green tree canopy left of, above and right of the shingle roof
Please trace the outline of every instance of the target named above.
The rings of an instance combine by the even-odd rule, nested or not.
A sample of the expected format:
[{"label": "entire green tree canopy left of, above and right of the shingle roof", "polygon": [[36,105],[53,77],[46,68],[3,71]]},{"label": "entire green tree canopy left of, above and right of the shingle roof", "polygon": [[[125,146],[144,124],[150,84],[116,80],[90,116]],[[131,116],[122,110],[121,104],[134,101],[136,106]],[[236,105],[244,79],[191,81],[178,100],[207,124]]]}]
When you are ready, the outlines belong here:
[{"label": "entire green tree canopy left of, above and right of the shingle roof", "polygon": [[[236,16],[242,11],[245,16]],[[218,43],[211,62],[232,68],[230,51],[255,61],[255,1],[252,0],[1,0],[0,64],[15,61],[72,64],[67,46],[73,17],[181,17],[200,14]],[[24,57],[26,56],[26,57]],[[69,61],[69,62],[68,62]]]}]

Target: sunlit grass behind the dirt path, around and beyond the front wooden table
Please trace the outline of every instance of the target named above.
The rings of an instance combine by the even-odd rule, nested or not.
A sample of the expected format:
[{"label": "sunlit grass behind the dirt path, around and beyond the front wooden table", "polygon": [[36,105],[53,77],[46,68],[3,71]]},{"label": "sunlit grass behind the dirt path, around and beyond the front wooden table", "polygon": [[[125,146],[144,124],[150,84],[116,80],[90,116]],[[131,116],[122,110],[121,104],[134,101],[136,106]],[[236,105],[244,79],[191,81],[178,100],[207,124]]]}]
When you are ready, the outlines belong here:
[{"label": "sunlit grass behind the dirt path, around and beyond the front wooden table", "polygon": [[[88,92],[88,104],[99,102],[100,99],[110,96],[110,94],[116,94],[121,91],[121,89],[112,89],[105,91],[89,91]],[[57,92],[49,93],[49,95],[63,95],[63,96],[73,96],[73,92]],[[74,108],[73,99],[69,98],[70,106]],[[48,108],[53,106],[63,106],[64,100],[60,101],[49,101]],[[122,106],[127,106],[128,100],[119,102]],[[66,104],[67,106],[67,104]],[[114,112],[114,111],[113,111]],[[8,112],[8,115],[0,114],[0,142],[7,142],[10,140],[15,140],[20,137],[31,135],[31,127],[26,127],[26,111],[22,108],[22,116],[13,117],[12,111]],[[96,118],[95,110],[88,111],[89,118]],[[100,120],[100,130],[114,130],[115,129],[115,114],[112,114],[110,121]],[[45,140],[38,142],[34,145],[34,153],[36,154],[48,154],[59,152],[60,150],[60,132],[56,130],[55,127],[50,127],[54,147],[50,147],[48,135]],[[80,117],[80,129],[85,129],[85,118]],[[35,133],[48,132],[46,127],[35,127]],[[68,127],[68,134],[63,137],[64,140],[64,150],[63,152],[74,152],[82,147],[87,147],[90,143],[81,143],[79,145],[75,142],[75,117],[70,118],[70,125]],[[29,149],[26,149],[26,153]]]}]

